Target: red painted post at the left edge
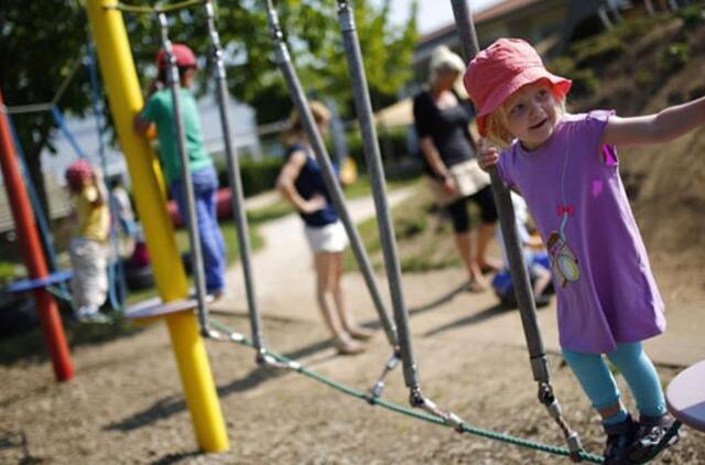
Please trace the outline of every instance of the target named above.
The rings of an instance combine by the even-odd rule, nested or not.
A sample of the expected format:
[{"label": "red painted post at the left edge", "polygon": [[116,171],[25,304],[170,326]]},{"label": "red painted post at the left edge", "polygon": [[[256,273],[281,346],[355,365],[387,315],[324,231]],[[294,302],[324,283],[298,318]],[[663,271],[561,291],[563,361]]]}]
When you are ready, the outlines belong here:
[{"label": "red painted post at the left edge", "polygon": [[[0,108],[2,107],[4,107],[4,102],[2,100],[2,91],[0,91]],[[20,238],[24,264],[32,279],[45,278],[47,275],[47,267],[42,253],[40,238],[34,227],[34,214],[30,207],[26,190],[18,166],[8,117],[2,110],[0,110],[0,165],[2,167],[4,188],[12,209],[12,217],[14,218],[15,230]],[[54,376],[57,381],[68,381],[74,377],[74,367],[70,363],[66,336],[64,336],[56,302],[44,288],[34,291],[34,299],[39,310],[42,332],[44,333],[44,343],[54,365]]]}]

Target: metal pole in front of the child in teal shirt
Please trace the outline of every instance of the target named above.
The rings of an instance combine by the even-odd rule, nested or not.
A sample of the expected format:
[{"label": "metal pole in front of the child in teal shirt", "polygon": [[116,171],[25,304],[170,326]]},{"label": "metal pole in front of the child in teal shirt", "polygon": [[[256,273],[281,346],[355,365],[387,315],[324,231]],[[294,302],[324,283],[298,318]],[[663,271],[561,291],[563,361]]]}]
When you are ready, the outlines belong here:
[{"label": "metal pole in front of the child in teal shirt", "polygon": [[182,212],[186,217],[188,226],[188,242],[191,246],[191,269],[196,288],[196,301],[198,302],[198,324],[200,332],[208,334],[208,307],[206,305],[206,282],[203,269],[203,251],[200,250],[200,231],[198,230],[198,219],[196,218],[196,202],[194,199],[194,185],[191,180],[191,166],[188,163],[188,150],[186,149],[186,137],[184,134],[184,121],[181,117],[181,84],[178,79],[178,68],[176,57],[172,48],[172,41],[169,39],[169,22],[166,14],[159,13],[159,23],[162,30],[162,47],[166,58],[166,85],[172,94],[172,105],[174,112],[174,128],[176,129],[176,141],[178,143],[178,156],[181,158],[181,183],[184,187],[186,212]]}]

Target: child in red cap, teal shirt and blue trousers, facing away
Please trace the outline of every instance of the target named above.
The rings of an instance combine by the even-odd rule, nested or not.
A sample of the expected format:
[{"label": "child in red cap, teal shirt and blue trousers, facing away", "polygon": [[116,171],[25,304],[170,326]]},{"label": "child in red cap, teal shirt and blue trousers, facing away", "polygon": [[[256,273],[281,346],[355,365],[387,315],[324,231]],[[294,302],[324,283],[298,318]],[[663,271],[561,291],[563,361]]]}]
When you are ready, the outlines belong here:
[{"label": "child in red cap, teal shirt and blue trousers, facing away", "polygon": [[[194,186],[197,227],[204,258],[206,291],[213,298],[223,295],[225,289],[226,249],[216,217],[216,191],[218,176],[210,154],[206,151],[200,129],[200,119],[196,100],[191,94],[197,63],[196,56],[186,45],[173,44],[180,77],[180,107],[184,125],[188,165]],[[172,95],[166,88],[166,54],[160,50],[156,54],[159,74],[150,86],[150,95],[142,111],[134,117],[134,129],[147,134],[152,125],[159,134],[159,159],[164,171],[170,193],[178,204],[182,217],[186,213],[185,190],[181,180],[181,158],[174,123]]]}]

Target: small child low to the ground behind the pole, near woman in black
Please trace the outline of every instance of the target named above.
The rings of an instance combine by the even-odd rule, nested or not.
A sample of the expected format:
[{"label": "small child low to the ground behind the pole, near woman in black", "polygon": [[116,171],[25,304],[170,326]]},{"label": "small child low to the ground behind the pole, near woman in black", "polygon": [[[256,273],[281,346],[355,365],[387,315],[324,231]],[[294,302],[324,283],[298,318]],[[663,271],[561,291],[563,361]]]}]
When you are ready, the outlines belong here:
[{"label": "small child low to the ground behind the pole, near woman in black", "polygon": [[[511,203],[514,207],[514,218],[517,220],[517,233],[523,248],[524,263],[529,271],[533,298],[536,306],[546,306],[551,303],[549,285],[551,284],[551,269],[549,268],[549,256],[541,242],[541,238],[529,233],[529,209],[521,195],[511,193]],[[517,306],[514,295],[514,283],[509,271],[509,257],[501,228],[497,228],[497,241],[502,250],[502,262],[505,268],[492,279],[492,288],[499,299],[511,306]]]}]

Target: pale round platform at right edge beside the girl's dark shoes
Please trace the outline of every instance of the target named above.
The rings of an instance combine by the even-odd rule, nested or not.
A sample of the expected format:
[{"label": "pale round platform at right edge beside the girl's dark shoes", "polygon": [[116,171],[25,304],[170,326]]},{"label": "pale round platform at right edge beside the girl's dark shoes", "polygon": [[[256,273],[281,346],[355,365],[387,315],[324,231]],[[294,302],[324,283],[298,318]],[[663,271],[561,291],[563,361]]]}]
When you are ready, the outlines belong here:
[{"label": "pale round platform at right edge beside the girl's dark shoes", "polygon": [[673,378],[665,392],[665,403],[673,418],[705,432],[705,360]]}]

